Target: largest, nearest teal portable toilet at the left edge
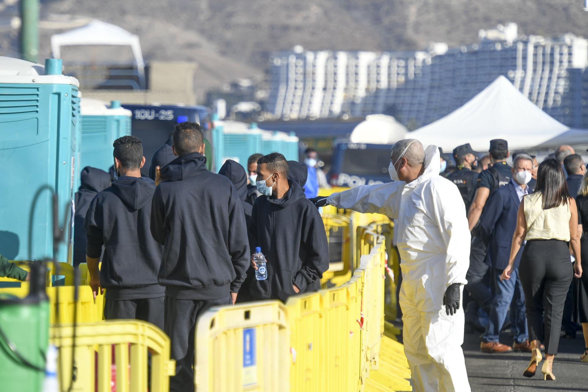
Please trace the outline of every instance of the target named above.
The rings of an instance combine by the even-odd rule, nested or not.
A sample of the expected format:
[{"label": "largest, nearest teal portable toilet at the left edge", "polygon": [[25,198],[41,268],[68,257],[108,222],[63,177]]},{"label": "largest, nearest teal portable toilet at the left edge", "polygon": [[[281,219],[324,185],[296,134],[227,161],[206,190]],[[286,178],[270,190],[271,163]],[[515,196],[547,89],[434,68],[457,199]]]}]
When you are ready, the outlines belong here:
[{"label": "largest, nearest teal portable toilet at the left edge", "polygon": [[[71,263],[78,80],[45,66],[0,57],[0,254],[12,260],[54,257]],[[65,243],[53,251],[52,207]]]}]

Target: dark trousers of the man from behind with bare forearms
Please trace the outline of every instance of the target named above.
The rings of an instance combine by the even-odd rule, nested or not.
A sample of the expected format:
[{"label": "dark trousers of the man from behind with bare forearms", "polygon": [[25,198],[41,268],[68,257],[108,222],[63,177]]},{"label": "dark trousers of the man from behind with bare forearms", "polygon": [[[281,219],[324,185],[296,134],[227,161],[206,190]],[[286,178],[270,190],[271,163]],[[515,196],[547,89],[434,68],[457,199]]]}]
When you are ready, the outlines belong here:
[{"label": "dark trousers of the man from behind with bare forearms", "polygon": [[135,319],[143,320],[163,329],[163,301],[165,297],[138,300],[104,301],[104,318],[106,320]]}]

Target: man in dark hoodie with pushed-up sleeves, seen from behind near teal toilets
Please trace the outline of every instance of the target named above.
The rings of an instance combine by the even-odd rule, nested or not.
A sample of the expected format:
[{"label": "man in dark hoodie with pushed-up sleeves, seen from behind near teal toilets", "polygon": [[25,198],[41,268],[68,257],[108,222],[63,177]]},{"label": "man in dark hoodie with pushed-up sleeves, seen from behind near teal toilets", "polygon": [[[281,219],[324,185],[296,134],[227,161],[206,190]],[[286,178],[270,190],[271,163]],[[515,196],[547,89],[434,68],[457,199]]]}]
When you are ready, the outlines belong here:
[{"label": "man in dark hoodie with pushed-up sleeves, seen from behind near teal toilets", "polygon": [[157,279],[162,247],[150,230],[155,182],[141,177],[141,139],[123,136],[113,146],[118,179],[94,197],[83,223],[90,286],[94,295],[98,287],[106,289],[105,319],[144,320],[163,329],[165,289]]}]

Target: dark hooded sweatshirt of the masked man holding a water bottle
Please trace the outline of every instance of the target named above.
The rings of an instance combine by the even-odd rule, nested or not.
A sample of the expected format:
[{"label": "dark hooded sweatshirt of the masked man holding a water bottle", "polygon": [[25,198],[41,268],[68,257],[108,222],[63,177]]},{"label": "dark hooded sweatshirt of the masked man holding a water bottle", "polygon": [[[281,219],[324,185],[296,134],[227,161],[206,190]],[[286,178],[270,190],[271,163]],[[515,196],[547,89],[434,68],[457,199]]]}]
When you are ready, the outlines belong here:
[{"label": "dark hooded sweatshirt of the masked man holding a water bottle", "polygon": [[296,293],[320,289],[320,278],[329,269],[329,244],[323,220],[306,199],[297,182],[282,199],[259,196],[253,205],[250,247],[261,247],[268,266],[268,279],[253,280],[253,299],[285,301]]}]

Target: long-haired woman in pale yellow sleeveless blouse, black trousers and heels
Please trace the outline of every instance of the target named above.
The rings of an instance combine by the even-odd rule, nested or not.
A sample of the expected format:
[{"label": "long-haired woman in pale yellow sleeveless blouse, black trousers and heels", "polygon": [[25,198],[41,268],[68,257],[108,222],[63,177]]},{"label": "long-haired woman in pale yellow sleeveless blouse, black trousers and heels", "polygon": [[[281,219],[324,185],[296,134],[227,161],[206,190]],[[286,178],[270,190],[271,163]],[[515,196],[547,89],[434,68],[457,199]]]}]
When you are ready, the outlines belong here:
[{"label": "long-haired woman in pale yellow sleeveless blouse, black trousers and heels", "polygon": [[[572,277],[582,275],[582,264],[576,202],[567,191],[562,166],[554,159],[544,160],[539,165],[535,192],[524,196],[520,203],[509,265],[501,279],[510,279],[515,256],[524,241],[527,243],[519,274],[533,351],[523,376],[535,375],[543,359],[539,339],[544,337],[543,380],[555,380],[552,368],[562,330],[563,306]],[[576,257],[573,266],[567,242]]]}]

